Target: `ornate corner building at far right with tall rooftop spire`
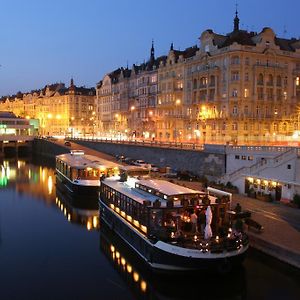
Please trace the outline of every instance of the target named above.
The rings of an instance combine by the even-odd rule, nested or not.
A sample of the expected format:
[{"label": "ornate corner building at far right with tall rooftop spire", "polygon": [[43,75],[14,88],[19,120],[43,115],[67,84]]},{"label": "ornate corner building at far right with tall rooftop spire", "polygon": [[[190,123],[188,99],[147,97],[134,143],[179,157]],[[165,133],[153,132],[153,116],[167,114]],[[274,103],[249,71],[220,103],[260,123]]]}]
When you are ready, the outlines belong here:
[{"label": "ornate corner building at far right with tall rooftop spire", "polygon": [[[185,61],[192,128],[204,142],[272,142],[299,130],[300,41],[239,29],[206,30]],[[196,134],[195,134],[196,137]]]}]

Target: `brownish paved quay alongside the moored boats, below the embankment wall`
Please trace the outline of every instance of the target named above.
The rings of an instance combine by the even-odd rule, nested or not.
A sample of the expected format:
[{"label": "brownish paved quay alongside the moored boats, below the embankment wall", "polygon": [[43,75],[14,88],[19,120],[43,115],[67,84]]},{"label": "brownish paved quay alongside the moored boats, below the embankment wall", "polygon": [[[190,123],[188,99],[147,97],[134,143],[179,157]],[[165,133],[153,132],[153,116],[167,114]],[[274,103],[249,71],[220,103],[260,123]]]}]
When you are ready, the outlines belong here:
[{"label": "brownish paved quay alongside the moored boats, below the embankment wall", "polygon": [[[64,145],[64,140],[45,141],[49,147],[58,147],[63,153],[70,149],[82,149],[85,153],[99,156],[107,160],[115,160],[114,156],[90,149],[86,146],[71,142],[71,147]],[[49,154],[53,155],[53,151]],[[200,189],[200,182],[174,180],[176,183],[189,188]],[[251,247],[300,269],[300,210],[288,207],[279,202],[262,202],[241,194],[233,194],[232,206],[240,203],[243,210],[249,210],[252,218],[259,222],[264,230],[256,232],[246,229]]]}]

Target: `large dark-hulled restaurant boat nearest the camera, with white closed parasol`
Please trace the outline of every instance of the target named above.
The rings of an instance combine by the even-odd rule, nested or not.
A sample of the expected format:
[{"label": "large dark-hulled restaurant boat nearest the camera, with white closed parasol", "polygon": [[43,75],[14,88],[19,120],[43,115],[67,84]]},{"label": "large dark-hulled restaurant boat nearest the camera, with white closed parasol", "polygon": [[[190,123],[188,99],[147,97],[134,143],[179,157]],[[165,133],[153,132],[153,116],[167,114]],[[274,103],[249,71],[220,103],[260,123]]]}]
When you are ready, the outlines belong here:
[{"label": "large dark-hulled restaurant boat nearest the camera, with white closed parasol", "polygon": [[[101,224],[153,270],[228,272],[249,247],[247,235],[230,227],[230,200],[224,196],[165,180],[112,176],[101,180],[99,201]],[[204,210],[211,216],[206,213],[202,226],[195,215],[200,220]]]}]

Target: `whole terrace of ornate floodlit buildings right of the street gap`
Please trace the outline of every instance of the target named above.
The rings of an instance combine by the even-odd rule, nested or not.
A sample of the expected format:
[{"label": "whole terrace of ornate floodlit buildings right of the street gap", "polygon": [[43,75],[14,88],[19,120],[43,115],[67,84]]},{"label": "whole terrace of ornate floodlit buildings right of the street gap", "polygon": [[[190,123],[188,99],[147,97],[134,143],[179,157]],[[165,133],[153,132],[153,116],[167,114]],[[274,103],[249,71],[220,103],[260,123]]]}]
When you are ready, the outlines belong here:
[{"label": "whole terrace of ornate floodlit buildings right of the street gap", "polygon": [[152,45],[146,64],[107,78],[110,119],[99,116],[110,124],[104,132],[222,144],[299,139],[300,40],[279,38],[271,28],[242,30],[237,12],[227,35],[206,30],[198,46],[172,45],[159,59]]}]

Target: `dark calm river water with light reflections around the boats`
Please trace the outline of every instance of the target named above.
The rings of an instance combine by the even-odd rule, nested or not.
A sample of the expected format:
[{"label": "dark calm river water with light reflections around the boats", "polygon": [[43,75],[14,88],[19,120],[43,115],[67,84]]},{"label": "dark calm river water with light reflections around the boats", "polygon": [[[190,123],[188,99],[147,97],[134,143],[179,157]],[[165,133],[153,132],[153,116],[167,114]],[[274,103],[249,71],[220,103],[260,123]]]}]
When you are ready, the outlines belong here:
[{"label": "dark calm river water with light reflections around the boats", "polygon": [[226,276],[151,273],[53,165],[1,164],[0,299],[300,299],[300,272],[254,250]]}]

